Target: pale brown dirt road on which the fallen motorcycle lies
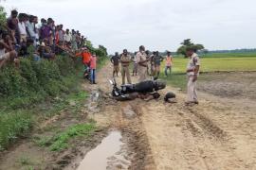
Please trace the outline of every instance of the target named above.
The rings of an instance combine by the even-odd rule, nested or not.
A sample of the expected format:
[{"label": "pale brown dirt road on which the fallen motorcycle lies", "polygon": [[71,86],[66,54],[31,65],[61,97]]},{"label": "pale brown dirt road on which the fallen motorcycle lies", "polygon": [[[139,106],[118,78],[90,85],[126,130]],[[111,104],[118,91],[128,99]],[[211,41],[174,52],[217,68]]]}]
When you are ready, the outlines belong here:
[{"label": "pale brown dirt road on which the fallen motorcycle lies", "polygon": [[[99,74],[99,88],[104,93],[110,92],[107,77],[111,72],[107,65]],[[177,104],[163,102],[164,93],[169,91],[177,94]],[[93,118],[99,125],[109,124],[140,134],[142,143],[133,143],[138,145],[137,151],[146,148],[145,158],[140,158],[144,163],[138,163],[140,168],[256,169],[255,100],[200,93],[200,105],[186,107],[184,93],[172,87],[161,93],[158,101],[106,100],[104,115],[94,114]],[[125,117],[127,107],[135,110],[136,118]],[[132,165],[131,169],[137,168]]]}]

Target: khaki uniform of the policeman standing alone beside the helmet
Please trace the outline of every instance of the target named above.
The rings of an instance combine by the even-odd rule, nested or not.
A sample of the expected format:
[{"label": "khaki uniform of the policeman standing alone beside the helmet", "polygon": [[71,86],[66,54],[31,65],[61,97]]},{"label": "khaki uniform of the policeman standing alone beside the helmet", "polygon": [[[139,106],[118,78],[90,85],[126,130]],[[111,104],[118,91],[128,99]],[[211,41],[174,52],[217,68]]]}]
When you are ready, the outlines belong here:
[{"label": "khaki uniform of the policeman standing alone beside the helmet", "polygon": [[[197,92],[196,92],[196,80],[192,81],[194,76],[194,70],[195,66],[200,65],[200,59],[197,56],[197,54],[193,53],[192,58],[189,59],[188,65],[187,65],[187,75],[188,75],[188,92],[187,92],[187,102],[197,102]],[[197,74],[199,76],[199,72]]]}]

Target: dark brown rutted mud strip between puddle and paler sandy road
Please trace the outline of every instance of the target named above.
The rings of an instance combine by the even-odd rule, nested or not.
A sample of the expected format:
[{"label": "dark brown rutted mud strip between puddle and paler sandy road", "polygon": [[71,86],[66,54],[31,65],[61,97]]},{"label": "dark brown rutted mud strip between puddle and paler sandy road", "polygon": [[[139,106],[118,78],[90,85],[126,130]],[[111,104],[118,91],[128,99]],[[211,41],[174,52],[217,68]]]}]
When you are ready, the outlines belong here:
[{"label": "dark brown rutted mud strip between puddle and paler sandy road", "polygon": [[105,99],[104,105],[102,112],[93,115],[92,118],[99,126],[121,131],[122,141],[128,146],[127,159],[131,161],[129,169],[155,169],[147,135],[141,126],[139,106],[133,102],[113,103],[109,99]]}]

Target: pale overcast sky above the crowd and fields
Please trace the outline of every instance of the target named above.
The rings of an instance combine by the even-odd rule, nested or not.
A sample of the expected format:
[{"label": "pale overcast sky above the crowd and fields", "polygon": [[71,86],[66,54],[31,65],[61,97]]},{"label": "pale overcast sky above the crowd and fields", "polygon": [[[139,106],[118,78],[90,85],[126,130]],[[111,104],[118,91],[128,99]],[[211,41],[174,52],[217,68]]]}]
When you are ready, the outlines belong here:
[{"label": "pale overcast sky above the crowd and fields", "polygon": [[206,48],[255,48],[256,0],[7,0],[39,18],[79,29],[110,53],[127,48],[175,51],[191,38]]}]

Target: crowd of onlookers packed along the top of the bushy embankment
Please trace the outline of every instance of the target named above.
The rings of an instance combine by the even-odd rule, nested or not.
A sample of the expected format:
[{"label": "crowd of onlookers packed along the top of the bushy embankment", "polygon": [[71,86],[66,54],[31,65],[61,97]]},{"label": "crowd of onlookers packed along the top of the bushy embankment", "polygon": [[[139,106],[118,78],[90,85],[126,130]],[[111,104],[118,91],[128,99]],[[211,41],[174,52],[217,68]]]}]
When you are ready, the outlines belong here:
[{"label": "crowd of onlookers packed along the top of the bushy embankment", "polygon": [[[29,50],[28,50],[29,49]],[[6,24],[0,27],[0,69],[13,62],[18,67],[20,58],[55,59],[67,53],[71,57],[82,57],[86,70],[92,72],[91,82],[95,83],[96,55],[86,48],[86,38],[75,29],[64,29],[52,18],[42,18],[11,10]]]}]

